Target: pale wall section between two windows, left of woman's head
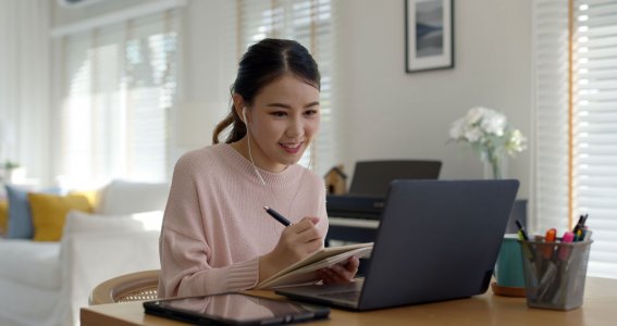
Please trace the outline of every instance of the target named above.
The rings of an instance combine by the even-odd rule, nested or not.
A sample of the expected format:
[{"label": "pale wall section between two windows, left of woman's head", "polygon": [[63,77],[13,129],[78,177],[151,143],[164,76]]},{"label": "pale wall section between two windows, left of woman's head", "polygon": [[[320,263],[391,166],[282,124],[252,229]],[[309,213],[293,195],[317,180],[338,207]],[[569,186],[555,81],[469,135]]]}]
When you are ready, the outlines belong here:
[{"label": "pale wall section between two windows, left of woman's head", "polygon": [[230,86],[237,67],[232,1],[189,0],[177,120],[177,150],[211,143],[212,130],[230,111]]}]

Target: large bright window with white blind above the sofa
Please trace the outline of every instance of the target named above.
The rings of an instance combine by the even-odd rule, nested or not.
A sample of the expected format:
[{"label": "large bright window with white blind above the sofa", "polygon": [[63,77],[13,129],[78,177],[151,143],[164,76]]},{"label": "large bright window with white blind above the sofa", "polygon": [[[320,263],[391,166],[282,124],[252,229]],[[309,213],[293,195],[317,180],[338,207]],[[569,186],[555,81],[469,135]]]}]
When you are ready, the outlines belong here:
[{"label": "large bright window with white blind above the sofa", "polygon": [[178,15],[168,10],[61,38],[64,181],[168,178]]}]

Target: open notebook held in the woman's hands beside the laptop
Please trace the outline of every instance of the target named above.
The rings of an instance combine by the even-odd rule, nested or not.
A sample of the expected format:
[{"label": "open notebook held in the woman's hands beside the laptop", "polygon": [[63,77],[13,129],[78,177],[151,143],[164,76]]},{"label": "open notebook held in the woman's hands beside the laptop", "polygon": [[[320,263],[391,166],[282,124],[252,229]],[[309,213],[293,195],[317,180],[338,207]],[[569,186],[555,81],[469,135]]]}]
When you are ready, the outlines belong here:
[{"label": "open notebook held in the woman's hands beside the laptop", "polygon": [[256,289],[316,283],[319,280],[319,276],[317,274],[318,269],[330,267],[347,260],[350,256],[368,256],[372,249],[373,242],[323,248],[306,259],[272,275],[268,279],[260,281],[256,286]]}]

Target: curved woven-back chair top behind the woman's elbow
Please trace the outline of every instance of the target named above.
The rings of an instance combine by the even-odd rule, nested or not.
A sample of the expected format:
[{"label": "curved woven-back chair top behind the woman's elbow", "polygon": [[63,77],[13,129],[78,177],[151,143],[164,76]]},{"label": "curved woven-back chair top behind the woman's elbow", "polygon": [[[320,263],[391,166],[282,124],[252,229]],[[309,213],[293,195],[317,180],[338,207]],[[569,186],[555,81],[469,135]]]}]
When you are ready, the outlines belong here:
[{"label": "curved woven-back chair top behind the woman's elbow", "polygon": [[159,269],[136,272],[108,279],[95,287],[89,304],[157,299]]}]

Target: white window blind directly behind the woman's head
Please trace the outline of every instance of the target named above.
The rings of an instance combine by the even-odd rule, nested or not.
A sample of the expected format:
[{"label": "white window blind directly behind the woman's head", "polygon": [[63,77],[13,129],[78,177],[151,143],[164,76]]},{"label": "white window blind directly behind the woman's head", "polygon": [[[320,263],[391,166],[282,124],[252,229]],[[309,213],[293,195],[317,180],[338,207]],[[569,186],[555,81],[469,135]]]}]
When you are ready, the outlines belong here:
[{"label": "white window blind directly behind the woman's head", "polygon": [[335,164],[333,110],[334,10],[330,0],[237,1],[238,55],[267,37],[294,39],[305,46],[321,73],[321,126],[311,150],[300,164],[323,175]]}]

